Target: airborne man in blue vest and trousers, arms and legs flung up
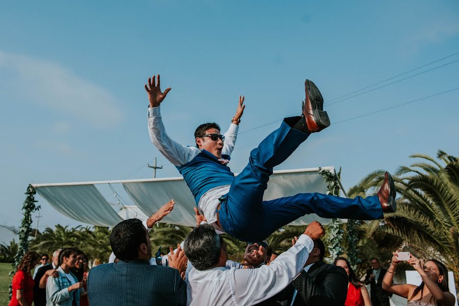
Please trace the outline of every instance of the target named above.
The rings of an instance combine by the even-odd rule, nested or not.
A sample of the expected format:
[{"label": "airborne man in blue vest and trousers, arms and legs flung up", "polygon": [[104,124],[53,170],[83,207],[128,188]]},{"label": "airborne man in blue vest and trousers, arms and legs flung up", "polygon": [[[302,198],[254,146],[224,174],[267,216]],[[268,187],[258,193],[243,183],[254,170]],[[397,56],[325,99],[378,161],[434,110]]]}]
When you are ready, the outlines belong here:
[{"label": "airborne man in blue vest and trousers, arms and legs flung up", "polygon": [[[247,167],[234,177],[227,164],[236,141],[244,97],[225,135],[215,123],[200,125],[195,132],[196,147],[184,146],[165,132],[160,104],[171,88],[161,92],[158,74],[148,79],[145,89],[150,107],[148,124],[152,143],[173,163],[195,197],[196,205],[210,224],[246,242],[260,241],[305,214],[323,218],[373,220],[395,212],[395,185],[388,172],[376,196],[354,199],[319,193],[299,193],[291,197],[263,201],[273,168],[286,160],[308,138],[330,125],[323,111],[323,98],[314,83],[305,82],[301,116],[285,118],[278,130],[252,150]],[[256,221],[255,221],[256,220]]]}]

